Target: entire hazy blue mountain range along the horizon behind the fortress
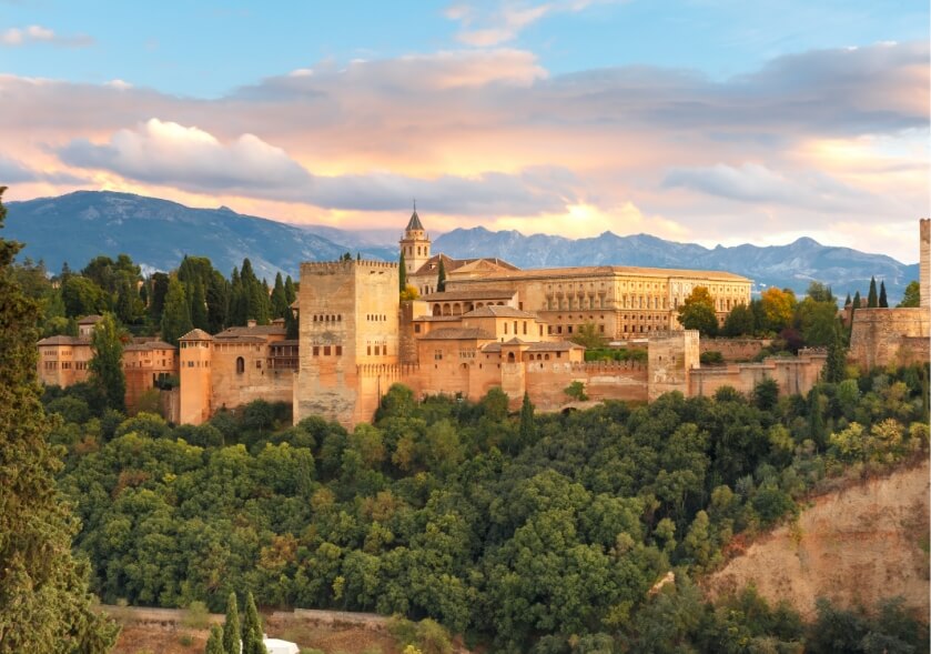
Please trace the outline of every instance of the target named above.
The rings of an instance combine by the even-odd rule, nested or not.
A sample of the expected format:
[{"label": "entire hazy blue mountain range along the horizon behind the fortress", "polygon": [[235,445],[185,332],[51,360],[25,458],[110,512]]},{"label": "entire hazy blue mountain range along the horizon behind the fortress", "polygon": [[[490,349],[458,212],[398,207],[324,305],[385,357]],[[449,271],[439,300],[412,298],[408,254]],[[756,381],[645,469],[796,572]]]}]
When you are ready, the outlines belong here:
[{"label": "entire hazy blue mountain range along the horizon behind the fortress", "polygon": [[[249,258],[260,276],[279,271],[296,278],[301,261],[337,259],[345,252],[393,260],[399,230],[357,232],[318,225],[294,225],[236,213],[231,209],[192,209],[161,200],[110,191],[77,191],[58,198],[9,202],[4,238],[27,244],[20,255],[43,260],[57,272],[63,262],[81,269],[98,254],[127,253],[145,270],[171,270],[184,254],[209,256],[229,273]],[[915,230],[917,232],[918,230]],[[915,234],[917,237],[918,234]],[[830,284],[843,296],[866,294],[870,276],[884,280],[890,302],[898,301],[918,264],[849,248],[799,239],[788,245],[705,248],[648,234],[611,232],[588,239],[485,228],[455,229],[433,243],[434,252],[454,258],[498,256],[520,268],[567,265],[640,265],[726,270],[748,276],[756,290]]]}]

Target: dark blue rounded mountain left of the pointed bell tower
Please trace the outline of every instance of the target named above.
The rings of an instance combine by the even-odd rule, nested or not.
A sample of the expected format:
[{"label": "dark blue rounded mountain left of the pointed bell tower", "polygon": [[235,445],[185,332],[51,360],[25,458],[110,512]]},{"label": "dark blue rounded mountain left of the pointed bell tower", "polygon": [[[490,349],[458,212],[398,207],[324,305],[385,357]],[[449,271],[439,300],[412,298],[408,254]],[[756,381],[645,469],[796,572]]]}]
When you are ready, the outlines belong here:
[{"label": "dark blue rounded mountain left of the pointed bell tower", "polygon": [[337,259],[346,251],[394,256],[394,250],[338,242],[340,230],[318,235],[303,228],[236,213],[227,208],[191,209],[131,193],[78,191],[60,198],[10,202],[4,237],[27,244],[20,254],[58,272],[80,269],[98,254],[127,253],[148,269],[171,270],[184,254],[209,256],[226,273],[244,258],[260,278],[296,276],[302,261]]}]

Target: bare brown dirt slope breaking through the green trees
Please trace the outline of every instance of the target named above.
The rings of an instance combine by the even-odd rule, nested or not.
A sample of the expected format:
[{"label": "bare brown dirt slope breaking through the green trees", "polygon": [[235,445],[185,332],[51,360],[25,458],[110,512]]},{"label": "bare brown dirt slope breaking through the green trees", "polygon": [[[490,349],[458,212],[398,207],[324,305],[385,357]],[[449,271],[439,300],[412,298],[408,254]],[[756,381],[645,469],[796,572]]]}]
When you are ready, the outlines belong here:
[{"label": "bare brown dirt slope breaking through the green trees", "polygon": [[902,469],[817,497],[797,523],[750,545],[707,581],[711,596],[752,582],[806,617],[814,601],[872,606],[901,595],[929,612],[929,466]]}]

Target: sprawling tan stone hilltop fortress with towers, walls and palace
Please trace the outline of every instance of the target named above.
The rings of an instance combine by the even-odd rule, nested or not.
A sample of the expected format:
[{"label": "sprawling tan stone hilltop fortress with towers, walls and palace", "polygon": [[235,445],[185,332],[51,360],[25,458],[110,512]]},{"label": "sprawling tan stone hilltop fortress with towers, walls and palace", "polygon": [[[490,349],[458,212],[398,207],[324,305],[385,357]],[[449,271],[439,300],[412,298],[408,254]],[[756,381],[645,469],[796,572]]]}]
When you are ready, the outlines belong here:
[{"label": "sprawling tan stone hilltop fortress with towers, walls and palace", "polygon": [[[929,222],[921,222],[921,309],[856,312],[851,358],[861,365],[927,361]],[[702,369],[698,333],[684,331],[677,309],[706,286],[722,323],[750,302],[751,281],[728,272],[631,266],[520,270],[500,259],[456,260],[431,252],[414,211],[401,239],[408,285],[399,300],[399,264],[382,261],[303,263],[298,338],[283,321],[193,330],[179,350],[146,340],[127,348],[130,406],[176,371],[180,388],[163,392],[174,422],[200,424],[253,400],[291,403],[295,422],[322,415],[346,426],[372,420],[394,383],[416,396],[444,393],[478,400],[494,388],[512,408],[527,393],[540,410],[563,408],[578,382],[593,401],[650,401],[668,391],[710,395],[729,385],[749,392],[775,379],[781,393],[817,383],[823,352]],[[445,279],[441,280],[441,272]],[[68,385],[87,379],[92,320],[81,335],[39,343],[40,379]],[[570,341],[580,330],[647,346],[647,361],[586,362]]]}]

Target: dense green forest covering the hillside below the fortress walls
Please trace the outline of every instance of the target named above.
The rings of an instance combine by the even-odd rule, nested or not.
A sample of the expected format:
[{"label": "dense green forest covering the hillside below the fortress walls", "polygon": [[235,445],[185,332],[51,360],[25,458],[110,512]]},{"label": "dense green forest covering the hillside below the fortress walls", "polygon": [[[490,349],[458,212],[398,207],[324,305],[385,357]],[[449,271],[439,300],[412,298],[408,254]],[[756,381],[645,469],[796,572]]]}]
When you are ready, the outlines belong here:
[{"label": "dense green forest covering the hillside below the fortress walls", "polygon": [[495,652],[927,650],[927,625],[894,601],[824,603],[811,626],[752,588],[702,600],[695,580],[735,534],[851,471],[927,456],[927,369],[777,392],[509,415],[500,391],[417,402],[396,385],[351,432],[291,426],[261,401],[200,426],[94,406],[83,385],[43,401],[74,545],[108,603],[220,612],[251,592],[264,607],[431,617]]}]

